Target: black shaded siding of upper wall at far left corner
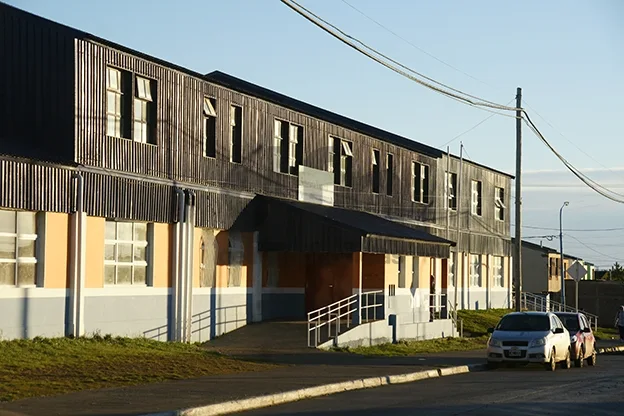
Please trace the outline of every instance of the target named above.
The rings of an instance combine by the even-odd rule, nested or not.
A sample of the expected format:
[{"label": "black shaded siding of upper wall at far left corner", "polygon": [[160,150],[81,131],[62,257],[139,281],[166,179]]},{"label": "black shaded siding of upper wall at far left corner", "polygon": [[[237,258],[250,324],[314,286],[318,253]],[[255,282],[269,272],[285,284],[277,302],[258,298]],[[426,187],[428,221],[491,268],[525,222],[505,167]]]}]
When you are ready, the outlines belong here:
[{"label": "black shaded siding of upper wall at far left corner", "polygon": [[71,31],[0,3],[0,154],[73,161]]}]

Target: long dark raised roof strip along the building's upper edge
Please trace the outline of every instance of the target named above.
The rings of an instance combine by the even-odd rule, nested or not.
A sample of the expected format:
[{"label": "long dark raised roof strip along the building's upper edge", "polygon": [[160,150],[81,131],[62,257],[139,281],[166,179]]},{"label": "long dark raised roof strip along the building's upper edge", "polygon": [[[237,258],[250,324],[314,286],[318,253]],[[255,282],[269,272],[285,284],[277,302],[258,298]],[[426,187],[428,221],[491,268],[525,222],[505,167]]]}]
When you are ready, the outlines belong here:
[{"label": "long dark raised roof strip along the building's upper edge", "polygon": [[440,149],[436,149],[434,147],[415,142],[406,137],[390,133],[369,124],[365,124],[360,121],[341,116],[340,114],[333,113],[320,107],[313,106],[312,104],[308,104],[295,98],[280,94],[273,90],[269,90],[259,85],[252,84],[251,82],[236,78],[221,71],[211,72],[207,74],[204,79],[209,82],[221,85],[222,87],[238,91],[242,94],[251,95],[252,97],[269,101],[273,104],[277,104],[291,110],[307,114],[309,116],[327,121],[328,123],[336,124],[346,129],[386,141],[396,146],[404,147],[406,149],[418,152],[423,155],[441,158],[444,154],[444,152],[442,152]]}]

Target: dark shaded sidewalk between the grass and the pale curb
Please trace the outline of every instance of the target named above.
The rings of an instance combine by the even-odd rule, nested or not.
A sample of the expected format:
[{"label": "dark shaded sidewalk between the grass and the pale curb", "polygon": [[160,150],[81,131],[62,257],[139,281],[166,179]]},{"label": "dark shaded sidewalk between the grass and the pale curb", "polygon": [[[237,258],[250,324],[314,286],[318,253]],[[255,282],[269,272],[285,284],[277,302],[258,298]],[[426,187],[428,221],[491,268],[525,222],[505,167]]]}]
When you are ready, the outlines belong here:
[{"label": "dark shaded sidewalk between the grass and the pale curb", "polygon": [[[278,361],[273,357],[272,361]],[[309,364],[229,376],[202,377],[136,387],[82,391],[62,396],[0,404],[20,415],[121,416],[166,412],[221,403],[358,378],[404,374],[439,367],[483,363],[483,352],[447,353],[418,357],[365,358],[331,352],[286,355],[284,361]],[[13,416],[13,415],[11,415]]]}]

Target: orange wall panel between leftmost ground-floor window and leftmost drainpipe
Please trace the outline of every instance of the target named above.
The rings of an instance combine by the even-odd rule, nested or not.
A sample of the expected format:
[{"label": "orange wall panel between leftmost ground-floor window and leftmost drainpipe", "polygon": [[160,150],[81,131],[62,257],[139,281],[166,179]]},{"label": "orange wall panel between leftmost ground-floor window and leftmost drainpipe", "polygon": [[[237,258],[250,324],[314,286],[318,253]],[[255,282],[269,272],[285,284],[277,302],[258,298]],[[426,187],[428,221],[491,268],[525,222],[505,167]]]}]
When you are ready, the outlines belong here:
[{"label": "orange wall panel between leftmost ground-floor window and leftmost drainpipe", "polygon": [[54,289],[69,287],[69,215],[45,214],[43,286]]}]

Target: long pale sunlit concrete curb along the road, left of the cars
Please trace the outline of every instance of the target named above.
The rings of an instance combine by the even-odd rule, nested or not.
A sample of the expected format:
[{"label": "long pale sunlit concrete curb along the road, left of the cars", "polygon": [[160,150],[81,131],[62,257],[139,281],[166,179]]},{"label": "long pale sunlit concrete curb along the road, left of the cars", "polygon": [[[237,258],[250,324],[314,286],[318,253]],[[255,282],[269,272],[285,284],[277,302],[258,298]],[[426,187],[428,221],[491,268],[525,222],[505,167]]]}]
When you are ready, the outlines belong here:
[{"label": "long pale sunlit concrete curb along the road, left of the cars", "polygon": [[162,413],[149,413],[142,416],[217,416],[247,410],[260,409],[263,407],[276,406],[285,403],[296,402],[313,397],[326,396],[329,394],[343,393],[346,391],[368,389],[391,384],[411,383],[430,378],[446,377],[457,374],[465,374],[475,371],[487,370],[487,364],[470,364],[458,367],[437,368],[434,370],[417,371],[414,373],[397,374],[392,376],[369,377],[357,380],[343,381],[341,383],[324,384],[321,386],[307,387],[305,389],[286,391],[269,394],[266,396],[251,397],[249,399],[232,400],[229,402],[215,403],[208,406],[193,407],[183,410],[174,410]]}]

